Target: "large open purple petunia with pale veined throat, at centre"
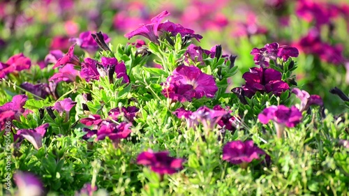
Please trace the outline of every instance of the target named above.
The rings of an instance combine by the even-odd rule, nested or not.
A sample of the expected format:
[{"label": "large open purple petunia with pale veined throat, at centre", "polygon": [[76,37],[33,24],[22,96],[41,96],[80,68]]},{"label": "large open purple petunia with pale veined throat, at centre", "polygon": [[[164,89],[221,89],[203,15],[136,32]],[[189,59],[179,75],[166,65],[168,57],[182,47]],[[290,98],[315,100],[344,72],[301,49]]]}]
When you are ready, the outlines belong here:
[{"label": "large open purple petunia with pale veined throat, at centre", "polygon": [[161,91],[166,98],[175,101],[191,101],[192,98],[213,98],[218,88],[214,77],[202,73],[195,66],[178,66],[168,77],[165,89]]}]

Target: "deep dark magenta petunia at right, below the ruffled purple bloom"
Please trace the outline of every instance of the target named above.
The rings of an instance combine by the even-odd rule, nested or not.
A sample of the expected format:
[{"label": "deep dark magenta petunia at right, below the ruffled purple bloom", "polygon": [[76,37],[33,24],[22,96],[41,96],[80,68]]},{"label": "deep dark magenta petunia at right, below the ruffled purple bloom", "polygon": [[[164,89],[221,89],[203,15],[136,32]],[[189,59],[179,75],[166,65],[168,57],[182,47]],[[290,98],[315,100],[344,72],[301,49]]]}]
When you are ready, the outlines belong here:
[{"label": "deep dark magenta petunia at right, below the ruffled purple bloom", "polygon": [[281,80],[281,73],[272,68],[250,68],[250,72],[244,73],[242,77],[246,80],[242,88],[248,98],[251,98],[257,91],[260,93],[272,92],[280,96],[283,91],[290,89],[290,86]]}]

